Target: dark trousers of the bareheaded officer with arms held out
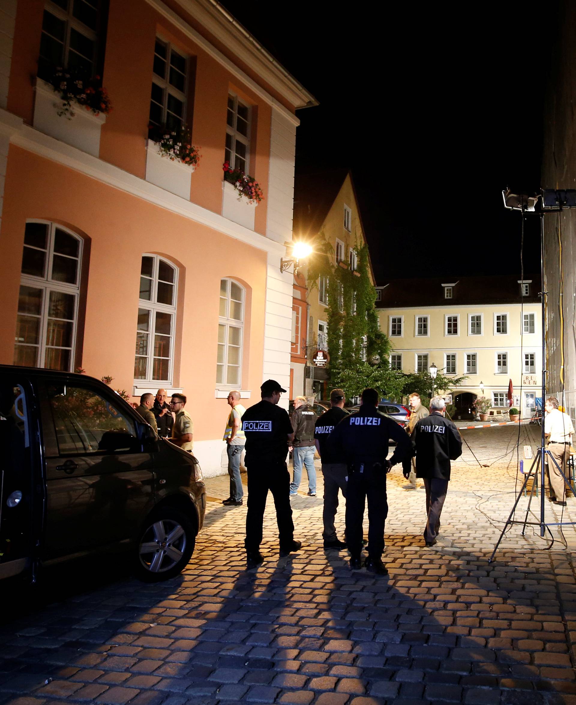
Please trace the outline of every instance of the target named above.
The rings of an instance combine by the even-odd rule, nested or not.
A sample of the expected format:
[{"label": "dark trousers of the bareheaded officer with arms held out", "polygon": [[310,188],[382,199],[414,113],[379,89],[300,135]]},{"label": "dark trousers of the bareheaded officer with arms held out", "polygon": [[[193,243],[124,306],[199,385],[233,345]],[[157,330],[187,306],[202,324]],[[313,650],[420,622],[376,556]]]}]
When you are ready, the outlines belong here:
[{"label": "dark trousers of the bareheaded officer with arms held out", "polygon": [[359,557],[362,551],[362,520],[368,501],[368,554],[381,558],[384,551],[384,525],[388,516],[386,500],[386,470],[364,466],[364,472],[348,471],[346,488],[346,544],[350,555]]}]

